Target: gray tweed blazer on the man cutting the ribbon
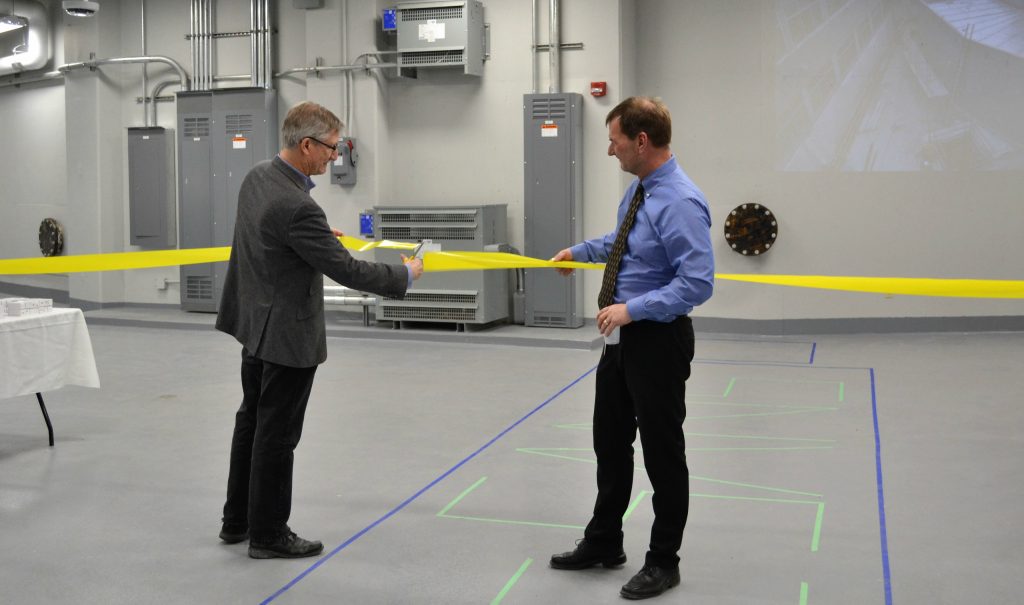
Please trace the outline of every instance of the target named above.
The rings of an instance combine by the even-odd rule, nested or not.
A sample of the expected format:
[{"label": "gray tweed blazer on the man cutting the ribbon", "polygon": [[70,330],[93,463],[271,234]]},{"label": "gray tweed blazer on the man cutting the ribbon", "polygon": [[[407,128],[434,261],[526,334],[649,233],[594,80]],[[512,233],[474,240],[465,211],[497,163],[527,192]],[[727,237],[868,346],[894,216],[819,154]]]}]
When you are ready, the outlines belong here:
[{"label": "gray tweed blazer on the man cutting the ribbon", "polygon": [[348,288],[399,298],[409,280],[403,265],[352,258],[284,160],[257,164],[239,191],[217,330],[266,361],[323,363],[325,274]]}]

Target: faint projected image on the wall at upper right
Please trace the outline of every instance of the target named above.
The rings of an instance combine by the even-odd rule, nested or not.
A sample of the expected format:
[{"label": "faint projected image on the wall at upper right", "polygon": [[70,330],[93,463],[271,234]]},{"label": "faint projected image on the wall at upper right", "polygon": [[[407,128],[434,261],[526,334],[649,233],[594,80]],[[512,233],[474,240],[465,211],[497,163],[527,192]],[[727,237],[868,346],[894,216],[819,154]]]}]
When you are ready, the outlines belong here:
[{"label": "faint projected image on the wall at upper right", "polygon": [[776,169],[1024,169],[1024,0],[774,10]]}]

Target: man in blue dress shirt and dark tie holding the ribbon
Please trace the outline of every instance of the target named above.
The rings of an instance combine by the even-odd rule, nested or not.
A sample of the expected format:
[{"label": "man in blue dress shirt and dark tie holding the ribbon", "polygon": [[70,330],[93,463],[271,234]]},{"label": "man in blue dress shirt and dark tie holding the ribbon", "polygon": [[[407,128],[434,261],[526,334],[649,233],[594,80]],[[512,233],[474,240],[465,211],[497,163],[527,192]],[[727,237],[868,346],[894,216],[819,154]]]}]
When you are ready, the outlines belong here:
[{"label": "man in blue dress shirt and dark tie holding the ribbon", "polygon": [[[654,523],[644,565],[621,594],[646,599],[679,584],[678,552],[689,509],[683,439],[686,379],[693,359],[688,314],[711,298],[715,259],[708,202],[669,148],[668,107],[658,99],[630,97],[611,110],[605,124],[608,155],[637,178],[620,202],[614,231],[552,259],[606,261],[606,273],[613,264],[609,257],[618,256],[621,264],[617,275],[605,275],[611,301],[603,296],[597,314],[609,343],[597,366],[594,400],[597,502],[584,538],[575,550],[552,556],[551,566],[585,569],[626,562],[623,515],[633,487],[633,442],[639,429],[644,467],[654,488]],[[616,239],[624,241],[625,251],[613,252]],[[607,338],[612,336],[618,338]]]}]

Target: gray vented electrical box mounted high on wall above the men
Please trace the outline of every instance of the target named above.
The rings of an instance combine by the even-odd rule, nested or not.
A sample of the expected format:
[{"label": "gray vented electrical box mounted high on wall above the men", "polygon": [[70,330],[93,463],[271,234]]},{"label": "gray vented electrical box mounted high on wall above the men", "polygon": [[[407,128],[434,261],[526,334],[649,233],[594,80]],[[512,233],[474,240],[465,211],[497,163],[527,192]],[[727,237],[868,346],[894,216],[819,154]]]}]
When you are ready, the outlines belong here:
[{"label": "gray vented electrical box mounted high on wall above the men", "polygon": [[483,75],[483,4],[402,2],[396,8],[398,67],[461,67],[465,74]]}]

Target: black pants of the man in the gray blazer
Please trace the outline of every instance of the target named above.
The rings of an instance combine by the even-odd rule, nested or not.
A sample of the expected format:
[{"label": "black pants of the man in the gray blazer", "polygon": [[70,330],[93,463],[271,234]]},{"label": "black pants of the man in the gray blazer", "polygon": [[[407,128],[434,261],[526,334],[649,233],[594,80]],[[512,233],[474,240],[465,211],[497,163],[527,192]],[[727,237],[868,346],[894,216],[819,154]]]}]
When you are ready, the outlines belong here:
[{"label": "black pants of the man in the gray blazer", "polygon": [[251,539],[287,533],[294,451],[316,366],[289,368],[242,349],[242,406],[234,415],[225,524],[249,527]]}]

